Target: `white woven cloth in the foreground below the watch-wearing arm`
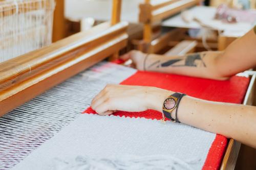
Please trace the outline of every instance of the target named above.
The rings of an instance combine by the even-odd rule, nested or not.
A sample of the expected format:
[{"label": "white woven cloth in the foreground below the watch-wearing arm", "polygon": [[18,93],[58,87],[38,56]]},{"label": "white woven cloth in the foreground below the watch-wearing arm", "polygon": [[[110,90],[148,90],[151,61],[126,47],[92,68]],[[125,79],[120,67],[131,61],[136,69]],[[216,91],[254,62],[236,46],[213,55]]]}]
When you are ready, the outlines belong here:
[{"label": "white woven cloth in the foreground below the watch-wearing arm", "polygon": [[[106,164],[117,169],[111,162],[126,164],[121,169],[143,164],[145,169],[155,169],[148,164],[159,169],[201,169],[215,137],[183,124],[82,114],[13,169],[108,169]],[[161,162],[165,163],[160,166]]]}]

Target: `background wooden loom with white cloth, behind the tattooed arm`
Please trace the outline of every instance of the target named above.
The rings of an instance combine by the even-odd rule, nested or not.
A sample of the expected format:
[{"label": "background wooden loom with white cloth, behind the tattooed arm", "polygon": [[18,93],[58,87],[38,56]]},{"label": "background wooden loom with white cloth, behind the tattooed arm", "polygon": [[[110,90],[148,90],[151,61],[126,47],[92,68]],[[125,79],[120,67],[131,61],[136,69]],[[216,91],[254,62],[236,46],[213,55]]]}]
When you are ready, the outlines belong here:
[{"label": "background wooden loom with white cloth, behind the tattooed arm", "polygon": [[[143,38],[135,40],[133,43],[137,49],[143,52],[160,53],[165,55],[174,55],[178,48],[184,48],[185,52],[193,52],[195,48],[199,51],[205,50],[225,50],[225,48],[236,38],[244,35],[251,29],[251,23],[237,23],[237,29],[242,32],[238,35],[234,34],[234,25],[226,24],[221,21],[214,20],[216,13],[215,8],[205,6],[196,6],[202,1],[193,0],[164,0],[151,1],[145,0],[140,4],[139,21],[143,23]],[[186,12],[182,12],[187,10]],[[182,12],[181,14],[179,14]],[[253,12],[253,11],[252,11]],[[204,13],[205,15],[202,15]],[[246,12],[245,12],[246,13]],[[193,24],[184,22],[184,16],[196,14]],[[249,16],[249,14],[247,14]],[[252,15],[252,14],[251,14]],[[199,17],[200,16],[200,17]],[[245,16],[245,14],[242,14]],[[193,17],[192,17],[193,18]],[[245,17],[246,18],[246,17]],[[253,19],[253,17],[251,18]],[[207,21],[206,21],[207,20]],[[211,20],[211,21],[208,21]],[[247,17],[248,20],[248,17]],[[172,30],[164,34],[160,34],[160,25]],[[213,36],[207,37],[207,32],[202,38],[190,37],[186,35],[188,29],[210,29]],[[230,30],[230,31],[229,31]],[[223,33],[222,33],[223,32]],[[207,40],[207,43],[206,43]],[[166,52],[168,47],[172,47]]]}]

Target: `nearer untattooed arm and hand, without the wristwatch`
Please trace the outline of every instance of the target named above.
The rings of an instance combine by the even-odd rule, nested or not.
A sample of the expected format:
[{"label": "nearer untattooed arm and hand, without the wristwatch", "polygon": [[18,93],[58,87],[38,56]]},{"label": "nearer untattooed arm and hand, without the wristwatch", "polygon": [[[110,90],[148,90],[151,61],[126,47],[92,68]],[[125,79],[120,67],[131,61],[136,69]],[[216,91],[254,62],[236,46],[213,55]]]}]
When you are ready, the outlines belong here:
[{"label": "nearer untattooed arm and hand, without the wristwatch", "polygon": [[[154,109],[162,112],[164,100],[174,92],[156,87],[107,85],[92,101],[100,115],[116,110],[140,112]],[[175,117],[175,111],[172,117]],[[231,137],[256,148],[256,107],[209,102],[184,96],[179,104],[181,123]]]}]

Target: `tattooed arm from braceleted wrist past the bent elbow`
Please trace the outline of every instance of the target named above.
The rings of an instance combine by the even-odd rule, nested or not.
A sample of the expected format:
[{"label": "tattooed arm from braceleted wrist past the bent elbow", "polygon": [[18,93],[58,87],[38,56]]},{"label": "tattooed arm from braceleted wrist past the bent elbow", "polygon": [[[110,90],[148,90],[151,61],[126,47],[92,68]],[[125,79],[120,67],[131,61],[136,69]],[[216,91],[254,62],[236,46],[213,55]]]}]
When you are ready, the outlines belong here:
[{"label": "tattooed arm from braceleted wrist past the bent elbow", "polygon": [[[225,80],[256,66],[256,34],[253,30],[231,43],[224,52],[201,52],[181,57],[150,54],[138,69]],[[142,59],[146,54],[140,53]],[[143,64],[143,65],[142,65]]]}]

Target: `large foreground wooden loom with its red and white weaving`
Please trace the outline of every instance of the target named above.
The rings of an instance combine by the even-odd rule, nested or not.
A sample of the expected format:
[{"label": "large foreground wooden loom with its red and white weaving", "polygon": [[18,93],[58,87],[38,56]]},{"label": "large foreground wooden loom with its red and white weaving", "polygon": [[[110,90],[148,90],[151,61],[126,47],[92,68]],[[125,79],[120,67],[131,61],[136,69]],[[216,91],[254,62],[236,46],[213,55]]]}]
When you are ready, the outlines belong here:
[{"label": "large foreground wooden loom with its red and white weaving", "polygon": [[[136,160],[166,160],[167,155],[168,159],[172,158],[168,162],[176,162],[170,166],[178,164],[184,169],[234,167],[240,143],[233,139],[227,146],[227,139],[221,135],[186,125],[162,125],[158,121],[161,114],[153,110],[117,112],[110,117],[94,115],[89,107],[91,100],[109,83],[156,86],[231,103],[250,104],[253,97],[255,75],[212,81],[102,62],[107,57],[117,57],[127,43],[127,23],[120,21],[120,3],[113,0],[110,22],[0,63],[0,169],[48,169],[53,167],[51,161],[69,162],[76,154],[82,156],[75,158],[78,163],[88,160],[86,156],[89,160],[102,161],[108,154],[121,154],[119,159],[110,158],[111,161],[127,161],[131,158],[126,159],[122,154],[129,153],[137,155]],[[179,85],[169,86],[174,81]],[[228,98],[227,92],[234,94],[232,98]],[[127,138],[133,140],[127,143]],[[103,147],[100,139],[112,144]],[[150,139],[155,142],[149,142]],[[147,144],[143,145],[145,141]],[[155,155],[158,149],[164,157]],[[97,154],[102,157],[96,159]],[[189,160],[193,154],[198,159]]]}]

